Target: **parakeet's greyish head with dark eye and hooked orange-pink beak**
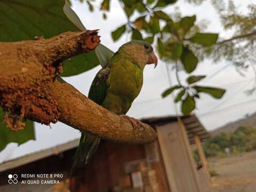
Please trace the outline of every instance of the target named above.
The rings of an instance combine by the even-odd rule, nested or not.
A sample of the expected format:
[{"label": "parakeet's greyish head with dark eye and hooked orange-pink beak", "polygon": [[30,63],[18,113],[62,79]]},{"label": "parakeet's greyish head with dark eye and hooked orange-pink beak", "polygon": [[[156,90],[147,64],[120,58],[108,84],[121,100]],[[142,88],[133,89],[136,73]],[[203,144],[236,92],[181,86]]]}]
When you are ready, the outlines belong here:
[{"label": "parakeet's greyish head with dark eye and hooked orange-pink beak", "polygon": [[142,69],[146,64],[153,63],[154,67],[157,67],[157,57],[154,54],[153,47],[144,41],[130,41],[123,44],[119,51],[125,52]]}]

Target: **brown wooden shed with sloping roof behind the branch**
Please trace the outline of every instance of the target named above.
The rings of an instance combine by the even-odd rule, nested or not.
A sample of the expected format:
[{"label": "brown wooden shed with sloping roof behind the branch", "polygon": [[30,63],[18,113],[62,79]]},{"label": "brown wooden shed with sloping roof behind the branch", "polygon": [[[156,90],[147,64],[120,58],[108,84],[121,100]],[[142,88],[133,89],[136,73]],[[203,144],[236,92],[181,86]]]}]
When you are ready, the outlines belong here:
[{"label": "brown wooden shed with sloping roof behind the branch", "polygon": [[[0,164],[0,190],[36,191],[172,191],[205,192],[210,185],[207,162],[200,141],[209,134],[197,117],[157,117],[142,119],[158,133],[150,145],[120,145],[102,141],[92,161],[68,177],[72,156],[79,140],[71,141]],[[198,147],[203,168],[197,170],[191,145]],[[9,174],[18,175],[18,183],[7,183]],[[63,174],[56,185],[26,185],[21,174]],[[38,178],[30,178],[38,180]],[[69,188],[69,189],[68,189]]]}]

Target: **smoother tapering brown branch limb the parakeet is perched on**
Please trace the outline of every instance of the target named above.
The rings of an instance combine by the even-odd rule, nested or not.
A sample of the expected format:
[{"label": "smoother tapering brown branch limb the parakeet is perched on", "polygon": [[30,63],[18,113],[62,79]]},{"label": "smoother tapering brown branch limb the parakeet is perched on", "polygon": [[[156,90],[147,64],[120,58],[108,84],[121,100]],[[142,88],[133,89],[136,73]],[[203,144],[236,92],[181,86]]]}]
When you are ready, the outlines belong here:
[{"label": "smoother tapering brown branch limb the parakeet is perched on", "polygon": [[149,125],[143,131],[134,130],[127,119],[98,106],[61,78],[51,87],[51,94],[59,103],[59,121],[75,129],[120,143],[149,143],[157,138]]}]

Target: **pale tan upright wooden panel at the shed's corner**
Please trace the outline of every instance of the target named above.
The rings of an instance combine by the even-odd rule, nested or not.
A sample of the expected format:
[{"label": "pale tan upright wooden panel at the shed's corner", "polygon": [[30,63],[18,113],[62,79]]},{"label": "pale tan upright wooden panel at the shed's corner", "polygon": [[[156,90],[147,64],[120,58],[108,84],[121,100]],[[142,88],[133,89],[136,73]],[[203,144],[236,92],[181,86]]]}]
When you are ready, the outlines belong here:
[{"label": "pale tan upright wooden panel at the shed's corner", "polygon": [[184,137],[177,122],[157,126],[157,133],[171,191],[199,192],[195,167],[188,154],[187,134]]}]

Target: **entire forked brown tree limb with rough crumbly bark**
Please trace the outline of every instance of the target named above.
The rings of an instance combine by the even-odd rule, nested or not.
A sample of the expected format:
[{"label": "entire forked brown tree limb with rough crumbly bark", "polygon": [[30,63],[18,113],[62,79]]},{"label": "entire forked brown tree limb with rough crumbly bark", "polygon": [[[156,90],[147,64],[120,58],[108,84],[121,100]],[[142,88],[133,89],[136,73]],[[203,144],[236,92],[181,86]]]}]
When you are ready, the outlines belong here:
[{"label": "entire forked brown tree limb with rough crumbly bark", "polygon": [[46,125],[60,121],[116,142],[156,139],[149,125],[144,131],[134,130],[127,119],[98,106],[58,77],[61,61],[96,48],[100,42],[96,30],[35,39],[0,43],[0,106],[5,111]]}]

